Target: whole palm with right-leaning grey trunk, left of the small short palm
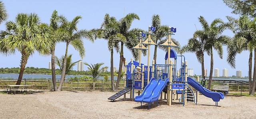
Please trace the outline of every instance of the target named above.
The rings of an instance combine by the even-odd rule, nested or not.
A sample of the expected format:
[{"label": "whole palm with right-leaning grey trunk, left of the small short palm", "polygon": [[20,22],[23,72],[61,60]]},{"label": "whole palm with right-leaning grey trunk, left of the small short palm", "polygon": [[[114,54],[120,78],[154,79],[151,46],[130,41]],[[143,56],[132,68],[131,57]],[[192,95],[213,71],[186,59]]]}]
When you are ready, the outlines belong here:
[{"label": "whole palm with right-leaning grey trunk, left of the small short palm", "polygon": [[84,42],[82,38],[87,38],[92,42],[94,41],[94,36],[91,31],[78,30],[77,24],[80,19],[82,19],[81,16],[76,16],[71,22],[68,22],[67,18],[65,18],[64,16],[60,16],[60,22],[61,22],[60,30],[64,32],[64,34],[62,34],[61,40],[66,43],[66,51],[65,51],[63,69],[62,69],[58,91],[61,91],[61,87],[66,75],[68,46],[71,44],[76,50],[78,50],[80,57],[84,58],[85,48],[84,48]]}]

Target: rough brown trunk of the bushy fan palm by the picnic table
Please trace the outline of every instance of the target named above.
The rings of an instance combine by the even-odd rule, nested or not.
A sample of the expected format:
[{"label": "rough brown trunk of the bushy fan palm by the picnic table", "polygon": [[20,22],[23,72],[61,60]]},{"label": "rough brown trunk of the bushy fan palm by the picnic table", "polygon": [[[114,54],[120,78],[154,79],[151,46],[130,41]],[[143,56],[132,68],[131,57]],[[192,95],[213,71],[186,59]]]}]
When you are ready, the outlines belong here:
[{"label": "rough brown trunk of the bushy fan palm by the picnic table", "polygon": [[24,70],[25,70],[25,66],[26,66],[26,64],[28,62],[28,57],[29,57],[29,55],[26,54],[25,51],[21,52],[20,74],[19,74],[18,80],[16,82],[16,85],[20,85],[20,83],[21,83],[21,80],[22,80],[22,77],[23,77],[23,73],[24,73]]}]

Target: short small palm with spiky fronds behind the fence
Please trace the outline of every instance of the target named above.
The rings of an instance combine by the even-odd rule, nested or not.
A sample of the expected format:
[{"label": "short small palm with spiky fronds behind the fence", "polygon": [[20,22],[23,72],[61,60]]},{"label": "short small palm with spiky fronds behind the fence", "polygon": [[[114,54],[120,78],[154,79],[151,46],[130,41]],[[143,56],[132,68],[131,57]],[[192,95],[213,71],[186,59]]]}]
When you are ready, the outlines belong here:
[{"label": "short small palm with spiky fronds behind the fence", "polygon": [[[88,72],[90,75],[92,75],[93,78],[93,88],[95,85],[95,81],[98,79],[99,76],[102,76],[102,69],[100,69],[100,66],[103,65],[104,63],[96,63],[96,64],[91,64],[89,65],[88,63],[84,63],[85,65],[88,65]],[[93,89],[94,90],[94,89]]]}]

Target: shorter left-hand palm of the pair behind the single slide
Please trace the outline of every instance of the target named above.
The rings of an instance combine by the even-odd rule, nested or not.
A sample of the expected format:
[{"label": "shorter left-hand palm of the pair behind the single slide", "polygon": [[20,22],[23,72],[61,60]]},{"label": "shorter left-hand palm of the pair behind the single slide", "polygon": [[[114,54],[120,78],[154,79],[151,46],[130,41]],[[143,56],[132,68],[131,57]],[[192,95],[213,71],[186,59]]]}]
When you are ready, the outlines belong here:
[{"label": "shorter left-hand palm of the pair behind the single slide", "polygon": [[197,30],[193,38],[188,40],[188,44],[182,47],[182,52],[192,52],[196,54],[198,62],[201,63],[202,76],[204,76],[204,52],[206,52],[207,35],[204,31]]}]

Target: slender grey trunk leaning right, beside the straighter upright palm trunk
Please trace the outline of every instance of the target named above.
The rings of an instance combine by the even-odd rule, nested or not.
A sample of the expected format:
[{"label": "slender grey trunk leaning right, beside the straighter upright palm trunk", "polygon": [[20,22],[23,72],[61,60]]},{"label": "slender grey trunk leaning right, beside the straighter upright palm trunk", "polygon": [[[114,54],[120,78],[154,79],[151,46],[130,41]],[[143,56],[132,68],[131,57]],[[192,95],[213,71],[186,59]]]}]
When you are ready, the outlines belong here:
[{"label": "slender grey trunk leaning right, beside the straighter upright palm trunk", "polygon": [[68,43],[66,44],[66,52],[65,52],[65,57],[64,57],[64,61],[63,61],[63,67],[62,67],[62,73],[61,73],[61,77],[60,77],[60,85],[58,87],[58,91],[61,91],[61,87],[62,84],[65,80],[65,76],[66,76],[66,65],[67,65],[67,55],[68,55]]}]

